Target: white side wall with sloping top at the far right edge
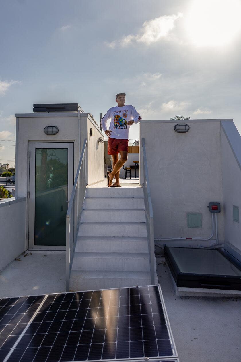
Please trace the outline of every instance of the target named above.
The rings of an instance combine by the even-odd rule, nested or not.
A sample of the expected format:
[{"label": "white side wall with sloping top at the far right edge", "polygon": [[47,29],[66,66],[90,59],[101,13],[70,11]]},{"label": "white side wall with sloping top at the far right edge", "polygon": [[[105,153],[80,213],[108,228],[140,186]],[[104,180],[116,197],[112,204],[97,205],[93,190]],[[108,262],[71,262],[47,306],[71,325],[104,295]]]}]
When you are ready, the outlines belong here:
[{"label": "white side wall with sloping top at the far right edge", "polygon": [[[222,122],[222,126],[225,242],[241,251],[241,136],[232,121]],[[239,223],[233,221],[233,205],[239,208]]]}]

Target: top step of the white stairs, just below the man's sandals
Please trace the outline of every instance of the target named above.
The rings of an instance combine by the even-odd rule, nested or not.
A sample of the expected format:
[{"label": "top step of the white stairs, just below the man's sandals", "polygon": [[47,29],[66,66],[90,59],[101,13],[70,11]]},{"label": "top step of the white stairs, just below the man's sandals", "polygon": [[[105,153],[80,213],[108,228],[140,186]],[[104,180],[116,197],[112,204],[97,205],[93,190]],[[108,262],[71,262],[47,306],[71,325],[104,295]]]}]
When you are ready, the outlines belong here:
[{"label": "top step of the white stairs, just below the man's sandals", "polygon": [[86,188],[85,197],[144,197],[143,188],[139,186],[133,187],[101,187]]}]

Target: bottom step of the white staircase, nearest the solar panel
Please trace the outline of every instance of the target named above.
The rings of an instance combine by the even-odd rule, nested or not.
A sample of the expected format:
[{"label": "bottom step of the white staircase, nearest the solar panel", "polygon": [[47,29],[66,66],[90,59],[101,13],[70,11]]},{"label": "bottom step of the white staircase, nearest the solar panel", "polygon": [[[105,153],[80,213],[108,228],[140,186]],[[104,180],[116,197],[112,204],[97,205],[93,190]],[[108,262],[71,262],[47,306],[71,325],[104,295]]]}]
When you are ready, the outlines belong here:
[{"label": "bottom step of the white staircase, nearest the solar panel", "polygon": [[[150,272],[143,271],[112,271],[110,273],[109,270],[72,270],[70,274],[70,291],[123,288],[150,284]],[[157,276],[155,284],[158,284]]]}]

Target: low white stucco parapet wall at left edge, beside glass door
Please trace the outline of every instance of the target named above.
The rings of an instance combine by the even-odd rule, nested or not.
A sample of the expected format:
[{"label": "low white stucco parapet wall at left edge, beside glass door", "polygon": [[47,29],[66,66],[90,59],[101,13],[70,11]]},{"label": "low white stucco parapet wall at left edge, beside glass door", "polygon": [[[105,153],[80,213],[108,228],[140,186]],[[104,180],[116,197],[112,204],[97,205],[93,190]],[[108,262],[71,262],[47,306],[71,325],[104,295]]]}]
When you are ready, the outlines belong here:
[{"label": "low white stucco parapet wall at left edge, beside glass door", "polygon": [[0,270],[26,250],[26,198],[0,201]]}]

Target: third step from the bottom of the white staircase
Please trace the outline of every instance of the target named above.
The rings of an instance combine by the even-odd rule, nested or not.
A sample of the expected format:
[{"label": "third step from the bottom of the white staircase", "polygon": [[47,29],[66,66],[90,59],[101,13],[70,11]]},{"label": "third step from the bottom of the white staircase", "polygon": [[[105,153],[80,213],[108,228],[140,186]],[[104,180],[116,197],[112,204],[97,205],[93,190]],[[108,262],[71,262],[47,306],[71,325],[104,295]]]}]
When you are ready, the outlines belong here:
[{"label": "third step from the bottom of the white staircase", "polygon": [[78,236],[76,252],[128,252],[146,253],[148,244],[146,237],[115,237],[115,236]]}]

